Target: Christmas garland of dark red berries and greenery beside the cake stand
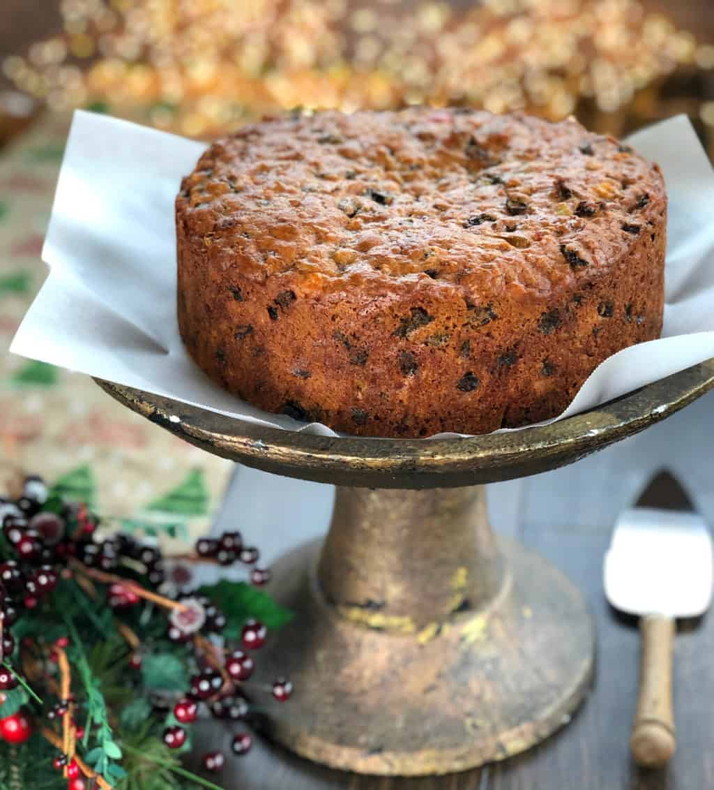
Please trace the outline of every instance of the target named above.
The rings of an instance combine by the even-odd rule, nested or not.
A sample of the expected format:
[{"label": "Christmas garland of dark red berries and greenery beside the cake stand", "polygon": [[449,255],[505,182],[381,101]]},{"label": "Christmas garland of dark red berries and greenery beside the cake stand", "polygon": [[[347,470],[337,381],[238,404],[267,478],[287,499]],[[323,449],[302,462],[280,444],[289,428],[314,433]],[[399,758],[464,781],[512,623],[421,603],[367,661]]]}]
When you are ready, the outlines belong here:
[{"label": "Christmas garland of dark red berries and greenery beside the cake stand", "polygon": [[[220,790],[179,755],[200,715],[252,718],[252,651],[291,617],[256,589],[258,551],[238,532],[201,539],[182,559],[243,562],[253,583],[176,589],[155,544],[105,533],[37,476],[0,498],[0,524],[0,790]],[[241,726],[234,753],[251,743]]]}]

